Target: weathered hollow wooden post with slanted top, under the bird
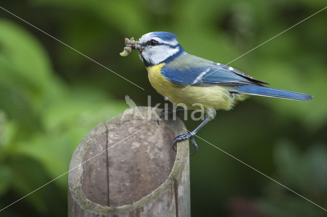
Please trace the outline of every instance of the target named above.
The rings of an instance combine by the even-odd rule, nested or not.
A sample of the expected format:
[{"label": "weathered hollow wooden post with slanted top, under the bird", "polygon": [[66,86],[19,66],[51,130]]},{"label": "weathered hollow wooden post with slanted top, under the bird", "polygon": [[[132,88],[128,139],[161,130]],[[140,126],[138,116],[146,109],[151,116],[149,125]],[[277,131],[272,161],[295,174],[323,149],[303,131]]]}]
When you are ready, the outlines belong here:
[{"label": "weathered hollow wooden post with slanted top, under the bird", "polygon": [[185,126],[158,125],[151,109],[128,109],[84,137],[69,165],[68,216],[190,216],[189,141],[172,150]]}]

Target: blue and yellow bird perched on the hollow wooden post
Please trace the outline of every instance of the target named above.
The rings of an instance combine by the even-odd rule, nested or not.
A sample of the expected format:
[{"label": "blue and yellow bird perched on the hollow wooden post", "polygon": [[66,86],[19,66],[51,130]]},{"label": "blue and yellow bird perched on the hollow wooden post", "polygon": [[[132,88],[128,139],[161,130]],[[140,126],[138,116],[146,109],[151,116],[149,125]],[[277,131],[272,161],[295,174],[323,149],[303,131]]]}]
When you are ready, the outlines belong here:
[{"label": "blue and yellow bird perched on the hollow wooden post", "polygon": [[[152,87],[174,104],[184,104],[190,110],[204,107],[205,119],[192,132],[176,135],[173,149],[182,140],[191,139],[198,150],[194,135],[216,116],[216,110],[230,110],[250,95],[310,101],[312,95],[267,87],[267,82],[255,79],[240,70],[185,52],[177,36],[170,32],[150,32],[132,46],[143,61]],[[176,150],[175,150],[176,151]]]}]

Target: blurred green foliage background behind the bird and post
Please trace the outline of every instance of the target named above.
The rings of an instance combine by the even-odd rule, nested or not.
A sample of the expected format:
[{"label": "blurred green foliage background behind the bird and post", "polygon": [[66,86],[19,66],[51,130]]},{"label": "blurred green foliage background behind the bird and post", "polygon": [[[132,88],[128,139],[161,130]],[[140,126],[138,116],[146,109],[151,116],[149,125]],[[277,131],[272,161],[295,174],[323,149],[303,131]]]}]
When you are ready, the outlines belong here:
[{"label": "blurred green foliage background behind the bird and post", "polygon": [[[326,6],[325,1],[4,0],[1,7],[145,88],[139,89],[0,9],[0,209],[68,170],[79,141],[128,108],[164,99],[125,37],[175,33],[186,52],[228,63]],[[232,62],[311,102],[252,97],[199,136],[327,208],[327,10]],[[185,122],[189,129],[198,123]],[[193,216],[325,216],[326,212],[197,139]],[[65,216],[67,176],[0,212]]]}]

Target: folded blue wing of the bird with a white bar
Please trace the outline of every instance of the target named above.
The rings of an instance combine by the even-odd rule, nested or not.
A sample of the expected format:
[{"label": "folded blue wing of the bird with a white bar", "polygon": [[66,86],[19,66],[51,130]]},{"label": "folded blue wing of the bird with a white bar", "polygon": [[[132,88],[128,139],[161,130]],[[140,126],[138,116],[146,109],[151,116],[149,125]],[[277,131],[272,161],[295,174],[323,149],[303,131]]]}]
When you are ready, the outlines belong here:
[{"label": "folded blue wing of the bird with a white bar", "polygon": [[179,69],[164,66],[161,69],[161,73],[170,82],[182,86],[268,84],[258,79],[254,79],[251,76],[242,73],[242,71],[220,63]]}]

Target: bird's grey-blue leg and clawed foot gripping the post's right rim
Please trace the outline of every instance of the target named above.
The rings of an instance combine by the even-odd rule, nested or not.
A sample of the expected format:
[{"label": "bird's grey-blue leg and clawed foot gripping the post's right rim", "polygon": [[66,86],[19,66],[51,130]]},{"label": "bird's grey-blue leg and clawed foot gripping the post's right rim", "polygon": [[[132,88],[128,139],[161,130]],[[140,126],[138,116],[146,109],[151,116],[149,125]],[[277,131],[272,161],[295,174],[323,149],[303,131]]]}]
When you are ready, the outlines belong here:
[{"label": "bird's grey-blue leg and clawed foot gripping the post's right rim", "polygon": [[191,154],[191,155],[194,155],[197,151],[198,151],[198,145],[197,143],[195,142],[195,139],[194,139],[194,135],[204,126],[206,125],[206,123],[208,123],[210,120],[214,119],[215,116],[216,116],[216,110],[213,109],[213,108],[205,108],[205,113],[206,113],[206,118],[203,120],[203,122],[197,127],[195,128],[192,132],[190,133],[181,133],[181,134],[178,134],[176,137],[175,137],[175,140],[173,142],[173,150],[175,150],[175,147],[177,147],[177,142],[179,141],[182,141],[182,140],[186,140],[186,139],[190,139],[191,138],[191,141],[192,141],[192,144],[193,144],[193,149],[194,149],[194,152]]}]

